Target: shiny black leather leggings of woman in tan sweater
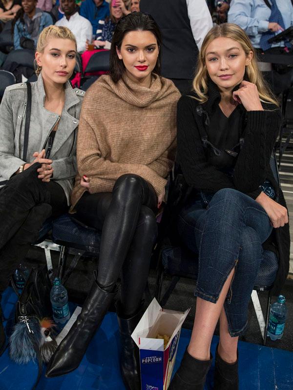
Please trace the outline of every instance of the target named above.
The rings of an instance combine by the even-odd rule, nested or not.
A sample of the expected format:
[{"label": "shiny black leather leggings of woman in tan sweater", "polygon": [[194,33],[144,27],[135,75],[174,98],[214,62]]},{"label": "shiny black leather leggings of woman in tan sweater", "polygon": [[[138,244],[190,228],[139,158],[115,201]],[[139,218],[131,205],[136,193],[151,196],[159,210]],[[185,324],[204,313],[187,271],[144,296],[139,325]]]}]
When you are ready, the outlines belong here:
[{"label": "shiny black leather leggings of woman in tan sweater", "polygon": [[142,177],[120,176],[112,193],[84,193],[76,205],[77,217],[102,231],[97,283],[112,291],[121,274],[121,312],[138,309],[157,235],[154,189]]}]

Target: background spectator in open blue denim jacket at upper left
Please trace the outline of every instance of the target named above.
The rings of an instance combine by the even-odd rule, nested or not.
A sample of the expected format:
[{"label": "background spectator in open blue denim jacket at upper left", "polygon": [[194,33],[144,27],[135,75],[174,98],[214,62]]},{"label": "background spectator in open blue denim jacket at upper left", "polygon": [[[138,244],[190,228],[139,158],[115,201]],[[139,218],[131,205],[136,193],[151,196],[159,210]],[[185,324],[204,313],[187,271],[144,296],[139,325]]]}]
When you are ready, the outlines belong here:
[{"label": "background spectator in open blue denim jacket at upper left", "polygon": [[21,8],[12,23],[15,50],[34,50],[42,30],[53,24],[51,15],[36,5],[37,0],[21,1]]}]

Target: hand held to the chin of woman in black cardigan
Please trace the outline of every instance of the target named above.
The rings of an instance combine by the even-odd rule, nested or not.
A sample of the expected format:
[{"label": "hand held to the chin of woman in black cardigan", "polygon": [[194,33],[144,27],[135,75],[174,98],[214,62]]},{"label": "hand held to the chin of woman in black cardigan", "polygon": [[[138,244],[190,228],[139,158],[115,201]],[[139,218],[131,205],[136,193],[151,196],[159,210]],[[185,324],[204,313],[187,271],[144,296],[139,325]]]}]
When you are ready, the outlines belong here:
[{"label": "hand held to the chin of woman in black cardigan", "polygon": [[239,89],[234,91],[232,96],[235,101],[244,105],[246,111],[264,111],[257,87],[252,82],[243,80]]}]

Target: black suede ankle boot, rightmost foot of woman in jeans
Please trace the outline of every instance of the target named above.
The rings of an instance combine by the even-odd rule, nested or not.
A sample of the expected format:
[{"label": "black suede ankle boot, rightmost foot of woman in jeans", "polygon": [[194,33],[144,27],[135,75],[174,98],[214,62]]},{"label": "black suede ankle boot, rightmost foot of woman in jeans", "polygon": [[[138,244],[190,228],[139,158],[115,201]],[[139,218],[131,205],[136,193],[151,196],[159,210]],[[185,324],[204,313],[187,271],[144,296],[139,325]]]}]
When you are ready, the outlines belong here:
[{"label": "black suede ankle boot, rightmost foot of woman in jeans", "polygon": [[225,362],[216,348],[214,390],[238,390],[238,351],[235,363]]}]

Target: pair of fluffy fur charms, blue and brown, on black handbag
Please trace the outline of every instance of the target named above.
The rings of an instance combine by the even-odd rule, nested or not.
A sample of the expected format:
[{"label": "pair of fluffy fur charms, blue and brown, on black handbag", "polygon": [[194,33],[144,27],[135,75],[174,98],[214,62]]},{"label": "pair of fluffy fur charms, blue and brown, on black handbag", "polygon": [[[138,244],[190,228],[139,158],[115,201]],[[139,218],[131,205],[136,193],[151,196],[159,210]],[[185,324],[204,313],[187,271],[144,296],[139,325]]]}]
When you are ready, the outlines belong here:
[{"label": "pair of fluffy fur charms, blue and brown, on black handbag", "polygon": [[48,363],[57,349],[52,328],[55,325],[49,318],[40,322],[37,317],[21,316],[10,336],[10,357],[19,364],[26,364],[41,356]]}]

